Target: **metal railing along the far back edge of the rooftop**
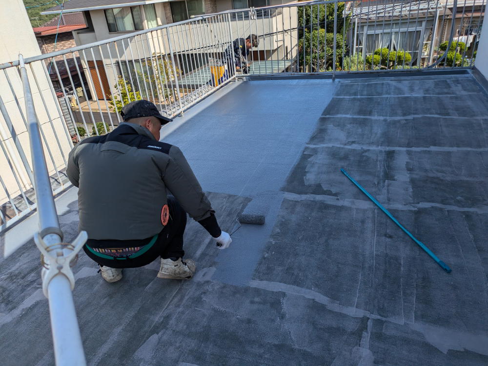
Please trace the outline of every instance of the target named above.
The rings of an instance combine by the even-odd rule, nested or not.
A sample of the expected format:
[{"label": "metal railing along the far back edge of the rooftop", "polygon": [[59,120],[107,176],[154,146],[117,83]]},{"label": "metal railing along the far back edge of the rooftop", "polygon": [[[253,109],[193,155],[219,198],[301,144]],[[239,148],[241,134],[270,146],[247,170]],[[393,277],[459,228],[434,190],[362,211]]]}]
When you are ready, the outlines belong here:
[{"label": "metal railing along the far back edge of the rooftop", "polygon": [[[267,51],[248,55],[250,75],[335,76],[473,67],[485,8],[486,0],[330,0],[227,13]],[[265,9],[273,12],[256,16]]]}]

